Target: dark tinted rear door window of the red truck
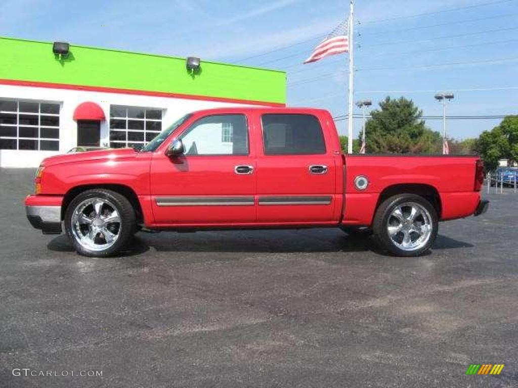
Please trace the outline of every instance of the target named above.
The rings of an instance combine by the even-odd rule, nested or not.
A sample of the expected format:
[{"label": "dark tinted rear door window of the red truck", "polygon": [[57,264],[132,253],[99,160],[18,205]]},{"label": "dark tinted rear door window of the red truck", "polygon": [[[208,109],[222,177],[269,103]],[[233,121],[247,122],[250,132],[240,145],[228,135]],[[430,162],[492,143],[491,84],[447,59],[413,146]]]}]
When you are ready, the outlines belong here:
[{"label": "dark tinted rear door window of the red truck", "polygon": [[309,114],[264,114],[265,155],[325,154],[318,118]]}]

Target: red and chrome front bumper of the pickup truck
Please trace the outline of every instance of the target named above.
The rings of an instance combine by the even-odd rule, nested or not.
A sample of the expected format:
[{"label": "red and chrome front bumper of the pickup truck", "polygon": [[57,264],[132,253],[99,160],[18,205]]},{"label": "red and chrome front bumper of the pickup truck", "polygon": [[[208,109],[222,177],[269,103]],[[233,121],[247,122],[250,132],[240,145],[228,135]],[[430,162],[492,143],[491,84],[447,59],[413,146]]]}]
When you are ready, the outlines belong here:
[{"label": "red and chrome front bumper of the pickup truck", "polygon": [[25,211],[31,225],[43,234],[61,234],[62,197],[28,196]]}]

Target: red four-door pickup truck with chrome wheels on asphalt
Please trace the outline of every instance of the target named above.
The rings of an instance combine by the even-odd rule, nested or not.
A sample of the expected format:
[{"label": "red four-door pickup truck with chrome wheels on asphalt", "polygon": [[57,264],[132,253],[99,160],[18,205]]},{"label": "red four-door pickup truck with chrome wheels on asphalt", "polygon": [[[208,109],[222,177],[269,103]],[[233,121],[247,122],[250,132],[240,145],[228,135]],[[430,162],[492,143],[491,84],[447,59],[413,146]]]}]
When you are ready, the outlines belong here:
[{"label": "red four-door pickup truck with chrome wheels on asphalt", "polygon": [[419,256],[438,222],[479,215],[476,156],[344,155],[325,110],[219,108],[183,116],[142,150],[53,156],[25,199],[45,234],[112,255],[145,230],[370,230]]}]

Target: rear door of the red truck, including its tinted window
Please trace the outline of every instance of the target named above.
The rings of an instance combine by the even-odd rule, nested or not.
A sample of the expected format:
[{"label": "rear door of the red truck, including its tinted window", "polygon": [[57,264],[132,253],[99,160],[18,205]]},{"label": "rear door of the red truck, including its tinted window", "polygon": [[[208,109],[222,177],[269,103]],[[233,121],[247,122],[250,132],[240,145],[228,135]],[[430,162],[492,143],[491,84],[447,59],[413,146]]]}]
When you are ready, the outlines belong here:
[{"label": "rear door of the red truck, including its tinted window", "polygon": [[[335,155],[312,114],[257,117],[257,222],[317,223],[335,219]],[[340,166],[341,168],[341,166]],[[340,169],[341,171],[341,169]]]}]

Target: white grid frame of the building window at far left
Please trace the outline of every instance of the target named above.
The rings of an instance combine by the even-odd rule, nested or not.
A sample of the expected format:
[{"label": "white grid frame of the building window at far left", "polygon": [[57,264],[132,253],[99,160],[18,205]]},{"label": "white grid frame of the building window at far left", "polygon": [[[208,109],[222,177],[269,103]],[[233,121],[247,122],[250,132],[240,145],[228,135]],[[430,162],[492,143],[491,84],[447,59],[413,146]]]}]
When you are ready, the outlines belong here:
[{"label": "white grid frame of the building window at far left", "polygon": [[[17,99],[17,98],[0,98],[0,101],[14,102],[16,104],[16,111],[5,111],[2,110],[0,113],[12,114],[16,117],[16,124],[0,124],[0,126],[4,128],[16,128],[16,136],[2,136],[0,135],[0,139],[2,140],[15,140],[16,148],[0,148],[1,150],[10,150],[10,151],[49,151],[49,152],[59,152],[60,151],[60,143],[61,143],[61,102],[50,101],[50,100],[30,100],[30,99]],[[38,111],[37,112],[24,112],[20,110],[20,103],[29,103],[29,104],[37,104]],[[55,105],[57,106],[57,113],[42,113],[41,105]],[[20,124],[20,116],[34,116],[37,118],[37,125],[34,124]],[[57,126],[53,125],[41,125],[42,117],[57,117]],[[23,128],[33,128],[36,130],[35,137],[27,137],[20,136],[20,129]],[[49,137],[41,137],[42,129],[57,129],[57,138],[49,138]],[[20,141],[34,141],[36,142],[35,149],[26,149],[20,148]],[[41,144],[42,142],[52,142],[57,144],[56,150],[42,150]]]}]

